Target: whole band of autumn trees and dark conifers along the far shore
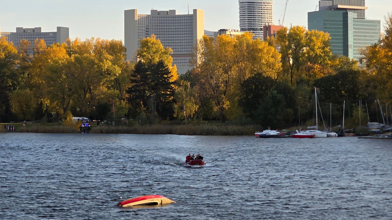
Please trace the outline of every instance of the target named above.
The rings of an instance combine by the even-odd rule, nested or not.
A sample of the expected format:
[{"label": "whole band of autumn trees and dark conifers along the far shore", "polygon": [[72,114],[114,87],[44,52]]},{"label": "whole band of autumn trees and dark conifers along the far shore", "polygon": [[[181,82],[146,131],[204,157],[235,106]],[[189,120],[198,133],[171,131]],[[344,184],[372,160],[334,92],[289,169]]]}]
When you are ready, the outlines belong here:
[{"label": "whole band of autumn trees and dark conifers along the far shore", "polygon": [[361,51],[366,66],[332,55],[327,33],[294,26],[265,41],[250,33],[203,36],[190,61],[194,68],[185,74],[178,74],[172,50],[154,35],[140,40],[131,61],[120,40],[76,38],[48,47],[44,40],[22,40],[15,48],[1,38],[0,121],[75,115],[287,128],[315,123],[314,87],[329,123],[341,123],[345,101],[348,123],[358,124],[359,99],[368,104],[370,121],[377,121],[374,100],[392,101],[391,21],[388,16],[379,42]]}]

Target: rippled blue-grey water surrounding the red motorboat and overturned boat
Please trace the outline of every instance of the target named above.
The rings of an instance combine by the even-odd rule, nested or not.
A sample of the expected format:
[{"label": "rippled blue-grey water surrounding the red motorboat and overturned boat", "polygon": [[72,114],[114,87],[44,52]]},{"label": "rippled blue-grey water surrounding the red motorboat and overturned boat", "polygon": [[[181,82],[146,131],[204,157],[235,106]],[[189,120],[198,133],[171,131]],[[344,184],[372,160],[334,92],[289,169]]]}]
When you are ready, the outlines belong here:
[{"label": "rippled blue-grey water surrounding the red motorboat and overturned boat", "polygon": [[[0,133],[0,152],[4,220],[392,219],[392,140]],[[116,207],[155,194],[176,203]]]}]

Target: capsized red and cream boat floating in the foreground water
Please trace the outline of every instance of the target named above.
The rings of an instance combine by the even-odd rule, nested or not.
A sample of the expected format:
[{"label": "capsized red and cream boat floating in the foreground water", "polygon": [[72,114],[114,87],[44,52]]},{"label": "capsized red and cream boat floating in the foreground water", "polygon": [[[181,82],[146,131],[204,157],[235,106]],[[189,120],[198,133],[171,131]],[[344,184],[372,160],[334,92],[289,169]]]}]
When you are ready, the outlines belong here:
[{"label": "capsized red and cream boat floating in the foreground water", "polygon": [[136,197],[136,198],[131,198],[124,200],[122,202],[119,202],[117,206],[120,207],[129,207],[129,206],[153,206],[153,205],[163,205],[163,204],[170,204],[173,203],[174,201],[166,198],[164,196],[160,195],[147,195],[147,196],[141,196],[141,197]]}]

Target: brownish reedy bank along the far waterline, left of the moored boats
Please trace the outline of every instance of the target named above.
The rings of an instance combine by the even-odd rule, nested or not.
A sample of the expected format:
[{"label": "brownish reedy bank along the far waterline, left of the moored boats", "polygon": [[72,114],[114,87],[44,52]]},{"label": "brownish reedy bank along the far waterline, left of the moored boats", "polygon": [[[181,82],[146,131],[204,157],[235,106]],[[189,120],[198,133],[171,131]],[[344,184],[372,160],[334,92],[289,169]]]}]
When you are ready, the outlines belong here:
[{"label": "brownish reedy bank along the far waterline, left of the moored boats", "polygon": [[[79,133],[79,129],[63,124],[23,124],[13,123],[16,132],[31,133]],[[258,125],[225,124],[154,124],[136,126],[93,126],[91,133],[129,133],[129,134],[177,134],[177,135],[254,135],[260,130]],[[2,132],[7,132],[2,129]]]}]

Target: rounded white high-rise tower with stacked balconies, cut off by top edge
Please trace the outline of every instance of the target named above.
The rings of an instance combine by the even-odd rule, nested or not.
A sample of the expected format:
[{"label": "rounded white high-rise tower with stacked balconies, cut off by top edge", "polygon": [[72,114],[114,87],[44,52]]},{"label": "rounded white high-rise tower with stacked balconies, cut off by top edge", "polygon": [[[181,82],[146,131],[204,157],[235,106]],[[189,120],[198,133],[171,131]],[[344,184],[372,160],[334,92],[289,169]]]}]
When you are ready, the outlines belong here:
[{"label": "rounded white high-rise tower with stacked balconies, cut off by top edge", "polygon": [[240,5],[240,31],[252,32],[263,40],[263,26],[272,23],[272,0],[238,0]]}]

